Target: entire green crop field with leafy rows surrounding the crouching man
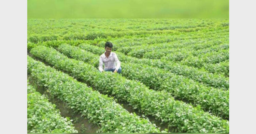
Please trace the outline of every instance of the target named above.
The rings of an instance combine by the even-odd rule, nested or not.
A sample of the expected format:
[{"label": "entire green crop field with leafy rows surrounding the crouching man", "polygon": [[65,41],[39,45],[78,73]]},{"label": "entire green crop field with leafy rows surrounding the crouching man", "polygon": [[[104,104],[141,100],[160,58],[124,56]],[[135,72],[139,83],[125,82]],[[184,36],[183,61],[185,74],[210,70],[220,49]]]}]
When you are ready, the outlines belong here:
[{"label": "entire green crop field with leafy rows surrounding the crouching man", "polygon": [[[28,19],[27,26],[28,132],[229,133],[228,19]],[[98,70],[106,41],[120,74]],[[37,110],[42,105],[49,114]]]}]

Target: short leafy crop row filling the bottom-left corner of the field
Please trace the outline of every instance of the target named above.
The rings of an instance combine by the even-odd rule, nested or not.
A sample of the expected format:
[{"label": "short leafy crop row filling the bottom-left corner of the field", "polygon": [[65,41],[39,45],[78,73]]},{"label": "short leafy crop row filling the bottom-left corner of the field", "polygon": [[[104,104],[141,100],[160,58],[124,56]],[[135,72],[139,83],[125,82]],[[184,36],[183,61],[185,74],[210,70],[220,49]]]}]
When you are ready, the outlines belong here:
[{"label": "short leafy crop row filling the bottom-left corner of the field", "polygon": [[[29,61],[29,59],[28,59]],[[63,118],[55,104],[28,83],[28,133],[77,133],[69,118]]]}]

